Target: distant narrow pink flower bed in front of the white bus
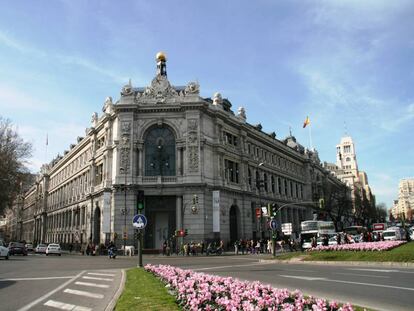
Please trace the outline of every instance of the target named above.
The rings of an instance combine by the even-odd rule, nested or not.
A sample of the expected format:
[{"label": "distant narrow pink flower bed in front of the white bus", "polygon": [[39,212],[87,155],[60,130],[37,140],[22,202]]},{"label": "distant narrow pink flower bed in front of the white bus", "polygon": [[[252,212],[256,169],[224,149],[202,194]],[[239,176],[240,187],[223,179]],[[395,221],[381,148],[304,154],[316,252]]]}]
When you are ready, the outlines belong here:
[{"label": "distant narrow pink flower bed in front of the white bus", "polygon": [[309,251],[388,251],[406,243],[405,241],[362,242],[314,247]]}]

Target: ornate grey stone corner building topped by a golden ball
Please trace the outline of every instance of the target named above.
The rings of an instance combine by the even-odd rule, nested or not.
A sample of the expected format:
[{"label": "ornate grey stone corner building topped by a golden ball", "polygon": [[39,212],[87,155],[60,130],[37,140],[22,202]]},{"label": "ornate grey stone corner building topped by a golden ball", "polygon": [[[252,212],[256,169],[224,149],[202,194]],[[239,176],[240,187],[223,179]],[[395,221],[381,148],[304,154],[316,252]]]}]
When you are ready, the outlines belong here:
[{"label": "ornate grey stone corner building topped by a golden ball", "polygon": [[148,87],[129,82],[118,101],[108,97],[85,137],[42,167],[25,194],[23,236],[134,244],[138,191],[147,249],[160,249],[177,229],[188,230],[188,241],[266,237],[255,216],[266,204],[288,204],[278,220],[294,231],[312,219],[321,176],[338,182],[317,152],[249,124],[244,108],[234,113],[219,93],[200,97],[196,82],[171,85],[165,55],[156,61]]}]

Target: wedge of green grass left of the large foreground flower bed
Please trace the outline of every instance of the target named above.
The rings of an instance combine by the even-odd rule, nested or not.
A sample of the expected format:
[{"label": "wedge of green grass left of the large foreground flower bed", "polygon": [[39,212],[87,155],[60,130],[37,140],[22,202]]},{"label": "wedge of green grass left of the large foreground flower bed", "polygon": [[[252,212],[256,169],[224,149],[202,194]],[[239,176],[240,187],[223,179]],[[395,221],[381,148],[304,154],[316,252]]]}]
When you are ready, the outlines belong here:
[{"label": "wedge of green grass left of the large foreground flower bed", "polygon": [[165,284],[143,268],[133,268],[127,271],[125,289],[115,310],[173,311],[180,308],[175,297],[168,294]]}]

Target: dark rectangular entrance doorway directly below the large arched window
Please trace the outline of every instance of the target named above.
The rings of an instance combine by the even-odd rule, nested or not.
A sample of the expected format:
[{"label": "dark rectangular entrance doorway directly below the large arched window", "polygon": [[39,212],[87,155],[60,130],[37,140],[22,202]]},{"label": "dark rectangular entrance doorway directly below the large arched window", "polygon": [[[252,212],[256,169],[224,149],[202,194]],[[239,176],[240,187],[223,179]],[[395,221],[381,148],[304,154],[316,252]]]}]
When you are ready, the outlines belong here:
[{"label": "dark rectangular entrance doorway directly below the large arched window", "polygon": [[[175,232],[175,196],[147,196],[145,198],[145,216],[148,219],[144,232],[144,248],[162,249],[164,241],[170,240]],[[170,245],[173,247],[173,245]]]}]

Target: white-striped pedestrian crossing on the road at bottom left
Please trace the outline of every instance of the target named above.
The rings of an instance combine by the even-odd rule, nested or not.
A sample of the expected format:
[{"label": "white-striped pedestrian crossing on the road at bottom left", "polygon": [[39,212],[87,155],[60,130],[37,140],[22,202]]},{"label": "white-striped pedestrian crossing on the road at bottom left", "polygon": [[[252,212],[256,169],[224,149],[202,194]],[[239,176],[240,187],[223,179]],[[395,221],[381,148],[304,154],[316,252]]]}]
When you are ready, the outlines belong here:
[{"label": "white-striped pedestrian crossing on the road at bottom left", "polygon": [[[85,272],[57,293],[58,297],[47,300],[42,310],[93,311],[94,305],[99,305],[94,304],[94,301],[102,301],[108,296],[107,291],[114,286],[116,277],[116,273],[105,271]],[[77,303],[74,304],[73,301]],[[84,302],[84,305],[81,305],[81,302]],[[101,308],[102,306],[96,310]]]}]

